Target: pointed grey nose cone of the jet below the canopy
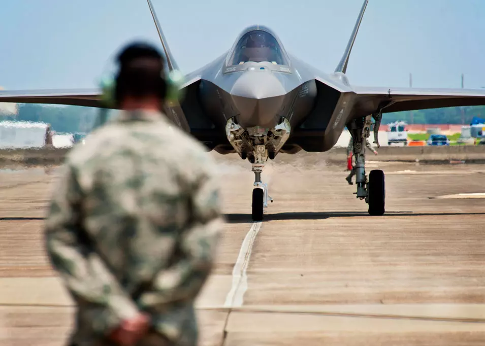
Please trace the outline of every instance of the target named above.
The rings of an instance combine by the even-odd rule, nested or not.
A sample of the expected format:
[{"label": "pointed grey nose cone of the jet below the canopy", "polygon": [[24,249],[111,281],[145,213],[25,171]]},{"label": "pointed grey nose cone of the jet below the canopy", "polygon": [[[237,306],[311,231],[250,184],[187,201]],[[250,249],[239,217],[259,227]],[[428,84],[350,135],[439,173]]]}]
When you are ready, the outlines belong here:
[{"label": "pointed grey nose cone of the jet below the canopy", "polygon": [[247,71],[231,89],[231,97],[245,128],[272,128],[278,124],[285,90],[281,82],[267,71]]}]

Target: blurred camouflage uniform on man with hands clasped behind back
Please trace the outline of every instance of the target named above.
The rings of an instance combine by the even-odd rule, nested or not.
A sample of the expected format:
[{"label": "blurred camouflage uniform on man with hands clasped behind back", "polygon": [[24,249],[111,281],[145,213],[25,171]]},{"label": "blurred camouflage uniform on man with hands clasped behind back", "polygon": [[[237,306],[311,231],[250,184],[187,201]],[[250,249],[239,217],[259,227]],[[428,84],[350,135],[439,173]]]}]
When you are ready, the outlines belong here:
[{"label": "blurred camouflage uniform on man with hands clasped behind back", "polygon": [[139,310],[152,329],[137,345],[198,342],[193,303],[223,217],[215,163],[170,125],[160,113],[121,112],[66,159],[45,235],[78,307],[73,345],[112,345],[106,335]]}]

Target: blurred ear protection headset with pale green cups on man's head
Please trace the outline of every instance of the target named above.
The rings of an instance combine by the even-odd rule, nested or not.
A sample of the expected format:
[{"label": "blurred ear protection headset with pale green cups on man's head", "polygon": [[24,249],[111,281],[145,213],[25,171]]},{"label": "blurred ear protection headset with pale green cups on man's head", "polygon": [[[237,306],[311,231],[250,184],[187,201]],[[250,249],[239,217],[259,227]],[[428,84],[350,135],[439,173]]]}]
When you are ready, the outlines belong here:
[{"label": "blurred ear protection headset with pale green cups on man's head", "polygon": [[[100,87],[102,90],[101,101],[107,108],[118,108],[119,100],[117,99],[117,82],[120,78],[121,64],[127,55],[152,56],[160,59],[162,64],[165,62],[163,56],[152,46],[145,43],[134,43],[124,48],[117,56],[118,71],[101,79]],[[160,99],[168,102],[179,101],[181,92],[179,86],[183,82],[183,75],[177,71],[171,71],[165,75],[162,71],[160,74]]]}]

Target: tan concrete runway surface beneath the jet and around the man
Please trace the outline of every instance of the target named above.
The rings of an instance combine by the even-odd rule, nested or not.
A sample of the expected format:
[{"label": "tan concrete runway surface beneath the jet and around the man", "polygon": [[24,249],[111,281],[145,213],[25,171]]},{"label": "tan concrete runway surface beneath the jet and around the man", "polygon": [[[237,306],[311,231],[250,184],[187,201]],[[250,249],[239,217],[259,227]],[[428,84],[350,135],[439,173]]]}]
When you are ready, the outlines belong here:
[{"label": "tan concrete runway surface beneath the jet and around the man", "polygon": [[[386,215],[370,217],[344,162],[281,155],[253,223],[250,164],[214,157],[227,226],[197,301],[202,345],[483,343],[485,198],[450,195],[485,192],[484,165],[368,161],[386,172]],[[52,177],[0,173],[1,345],[61,346],[73,323],[43,247]]]}]

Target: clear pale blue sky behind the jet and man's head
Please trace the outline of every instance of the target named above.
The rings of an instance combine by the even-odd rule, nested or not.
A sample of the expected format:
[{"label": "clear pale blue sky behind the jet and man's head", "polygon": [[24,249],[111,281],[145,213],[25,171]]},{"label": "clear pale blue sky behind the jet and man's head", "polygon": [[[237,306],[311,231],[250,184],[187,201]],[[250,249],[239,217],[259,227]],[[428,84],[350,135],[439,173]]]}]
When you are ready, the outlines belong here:
[{"label": "clear pale blue sky behind the jet and man's head", "polygon": [[[251,24],[286,50],[333,72],[363,0],[245,2],[152,0],[179,67],[191,72],[231,47]],[[484,0],[370,0],[352,50],[350,83],[485,87]],[[0,85],[89,88],[133,39],[158,46],[145,0],[9,0],[0,11]]]}]

